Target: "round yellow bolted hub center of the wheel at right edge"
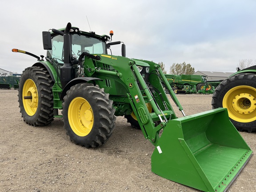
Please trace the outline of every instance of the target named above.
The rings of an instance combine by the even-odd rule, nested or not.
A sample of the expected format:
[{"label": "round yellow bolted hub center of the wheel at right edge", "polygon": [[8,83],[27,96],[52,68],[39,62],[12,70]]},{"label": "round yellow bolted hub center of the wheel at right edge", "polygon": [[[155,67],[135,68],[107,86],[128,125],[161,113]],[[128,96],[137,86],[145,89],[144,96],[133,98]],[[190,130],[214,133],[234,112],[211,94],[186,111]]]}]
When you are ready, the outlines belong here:
[{"label": "round yellow bolted hub center of the wheel at right edge", "polygon": [[256,98],[248,93],[241,93],[232,101],[232,107],[240,114],[248,114],[256,109]]}]

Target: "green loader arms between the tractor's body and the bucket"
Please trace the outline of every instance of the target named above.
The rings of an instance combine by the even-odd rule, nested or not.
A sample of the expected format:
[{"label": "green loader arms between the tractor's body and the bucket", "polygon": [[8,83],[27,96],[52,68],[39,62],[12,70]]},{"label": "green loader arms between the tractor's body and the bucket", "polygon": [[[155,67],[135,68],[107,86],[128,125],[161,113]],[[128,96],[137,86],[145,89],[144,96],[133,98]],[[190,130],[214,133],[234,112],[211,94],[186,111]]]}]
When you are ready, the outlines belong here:
[{"label": "green loader arms between the tractor's body and the bucket", "polygon": [[[123,102],[123,105],[125,105],[125,102],[128,101],[144,137],[156,145],[159,140],[159,131],[165,127],[166,122],[177,118],[164,92],[161,83],[164,82],[161,80],[163,75],[159,73],[161,72],[159,65],[153,62],[130,60],[120,56],[103,54],[98,56],[100,56],[100,60],[93,60],[88,57],[84,59],[86,75],[105,79],[103,82],[98,81],[97,84],[110,94],[118,114],[122,114],[122,112],[117,110],[117,103]],[[144,80],[145,77],[143,78],[137,68],[139,65],[150,68],[147,83]],[[166,79],[164,78],[164,80]],[[116,88],[113,90],[109,87]],[[170,85],[169,89],[171,90]],[[119,90],[122,91],[119,92]],[[126,93],[123,94],[124,92]],[[172,97],[176,98],[174,93]],[[147,104],[151,105],[152,112],[148,111]],[[180,103],[177,104],[182,109]],[[126,107],[123,108],[126,109]],[[123,113],[125,114],[125,112]]]}]

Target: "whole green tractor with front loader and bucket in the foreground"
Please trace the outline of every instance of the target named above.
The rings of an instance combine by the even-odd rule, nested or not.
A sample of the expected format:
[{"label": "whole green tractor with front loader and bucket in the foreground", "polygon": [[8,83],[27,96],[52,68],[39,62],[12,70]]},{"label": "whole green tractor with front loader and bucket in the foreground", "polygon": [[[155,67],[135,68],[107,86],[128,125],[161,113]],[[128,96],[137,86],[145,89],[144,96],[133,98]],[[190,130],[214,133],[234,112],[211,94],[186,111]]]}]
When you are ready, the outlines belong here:
[{"label": "whole green tractor with front loader and bucket in the foreground", "polygon": [[[125,116],[156,146],[152,172],[205,192],[225,191],[252,155],[227,110],[185,116],[160,65],[125,57],[125,45],[112,35],[68,23],[43,32],[45,58],[13,49],[38,60],[20,78],[24,121],[44,126],[63,118],[74,143],[96,148],[112,135],[116,116]],[[116,44],[122,56],[108,54]],[[184,117],[177,118],[164,89]]]}]

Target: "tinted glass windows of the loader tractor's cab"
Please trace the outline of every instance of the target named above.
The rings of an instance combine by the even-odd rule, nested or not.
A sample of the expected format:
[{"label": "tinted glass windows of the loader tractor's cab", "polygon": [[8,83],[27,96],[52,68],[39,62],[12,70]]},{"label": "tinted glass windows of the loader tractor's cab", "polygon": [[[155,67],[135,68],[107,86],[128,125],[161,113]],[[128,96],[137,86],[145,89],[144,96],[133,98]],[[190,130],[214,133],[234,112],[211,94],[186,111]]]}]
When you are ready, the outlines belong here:
[{"label": "tinted glass windows of the loader tractor's cab", "polygon": [[[99,39],[71,34],[72,36],[72,56],[79,57],[82,52],[90,54],[106,54],[106,44]],[[48,50],[48,58],[55,60],[60,64],[64,63],[64,42],[63,36],[54,36],[52,38],[52,50]]]}]

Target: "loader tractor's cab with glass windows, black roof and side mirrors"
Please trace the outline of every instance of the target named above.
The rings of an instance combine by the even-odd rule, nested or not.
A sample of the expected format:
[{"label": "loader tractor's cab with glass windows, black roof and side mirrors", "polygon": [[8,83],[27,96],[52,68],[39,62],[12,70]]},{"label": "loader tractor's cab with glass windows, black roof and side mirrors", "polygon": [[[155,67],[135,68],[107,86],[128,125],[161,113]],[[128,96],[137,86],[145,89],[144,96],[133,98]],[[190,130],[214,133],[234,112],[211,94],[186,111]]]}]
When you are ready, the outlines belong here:
[{"label": "loader tractor's cab with glass windows, black roof and side mirrors", "polygon": [[[52,32],[43,32],[44,49],[47,49],[46,59],[55,64],[64,64],[64,28],[51,29]],[[95,32],[79,31],[79,28],[72,27],[69,31],[71,41],[71,64],[77,64],[76,59],[83,53],[89,54],[108,54],[107,49],[111,45],[121,44],[123,42],[109,42],[112,40],[113,32],[110,31],[110,36],[96,35]],[[112,55],[111,49],[110,53]],[[125,56],[125,45],[122,44],[122,56]]]}]

